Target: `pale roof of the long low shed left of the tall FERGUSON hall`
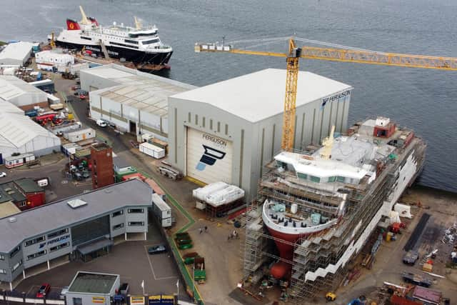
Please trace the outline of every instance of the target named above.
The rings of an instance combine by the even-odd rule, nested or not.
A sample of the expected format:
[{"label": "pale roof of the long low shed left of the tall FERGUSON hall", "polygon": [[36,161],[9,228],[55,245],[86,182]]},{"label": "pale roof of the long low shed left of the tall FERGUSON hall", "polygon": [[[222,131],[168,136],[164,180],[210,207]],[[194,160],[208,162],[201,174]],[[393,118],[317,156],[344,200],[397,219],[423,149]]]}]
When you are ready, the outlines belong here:
[{"label": "pale roof of the long low shed left of the tall FERGUSON hall", "polygon": [[146,74],[116,64],[84,71],[119,84],[93,91],[94,94],[157,116],[168,114],[169,96],[196,88],[189,84]]}]

